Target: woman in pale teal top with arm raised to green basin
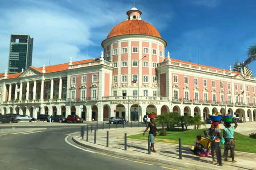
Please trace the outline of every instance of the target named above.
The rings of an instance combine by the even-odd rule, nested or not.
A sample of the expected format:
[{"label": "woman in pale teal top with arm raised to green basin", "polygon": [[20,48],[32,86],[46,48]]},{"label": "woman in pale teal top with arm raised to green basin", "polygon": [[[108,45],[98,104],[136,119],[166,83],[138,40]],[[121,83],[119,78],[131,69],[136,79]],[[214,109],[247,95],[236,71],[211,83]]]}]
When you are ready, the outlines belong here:
[{"label": "woman in pale teal top with arm raised to green basin", "polygon": [[235,126],[231,127],[231,122],[225,122],[224,123],[224,131],[223,131],[223,137],[225,138],[224,143],[224,161],[228,161],[228,150],[230,149],[230,156],[232,158],[232,162],[236,162],[235,159],[235,146],[236,142],[234,139],[234,130],[237,128],[236,120],[233,118],[233,123]]}]

